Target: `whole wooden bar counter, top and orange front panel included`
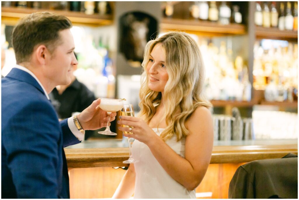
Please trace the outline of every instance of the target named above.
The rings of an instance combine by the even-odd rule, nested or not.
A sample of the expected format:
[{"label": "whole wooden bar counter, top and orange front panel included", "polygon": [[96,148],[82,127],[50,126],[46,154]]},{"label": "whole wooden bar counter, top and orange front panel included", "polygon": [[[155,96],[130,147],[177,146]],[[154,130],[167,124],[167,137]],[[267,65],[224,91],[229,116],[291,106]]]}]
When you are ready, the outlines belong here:
[{"label": "whole wooden bar counter, top and orange front panel included", "polygon": [[[65,148],[71,198],[111,198],[127,167],[127,141],[87,140]],[[210,165],[197,198],[228,198],[228,187],[237,168],[250,161],[298,155],[298,140],[214,141]]]}]

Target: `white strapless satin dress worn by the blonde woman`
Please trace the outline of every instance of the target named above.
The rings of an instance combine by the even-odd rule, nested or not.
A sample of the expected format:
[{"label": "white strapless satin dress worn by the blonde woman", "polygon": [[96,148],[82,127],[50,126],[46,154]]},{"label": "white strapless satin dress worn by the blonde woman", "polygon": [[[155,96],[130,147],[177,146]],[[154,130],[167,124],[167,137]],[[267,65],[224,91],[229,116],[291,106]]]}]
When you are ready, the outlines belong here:
[{"label": "white strapless satin dress worn by the blonde woman", "polygon": [[[153,130],[160,135],[164,129]],[[166,143],[181,157],[185,157],[185,138],[176,142],[176,136],[173,135]],[[134,199],[196,199],[195,190],[187,190],[168,175],[146,144],[135,140],[132,144],[132,157],[139,160],[134,163]]]}]

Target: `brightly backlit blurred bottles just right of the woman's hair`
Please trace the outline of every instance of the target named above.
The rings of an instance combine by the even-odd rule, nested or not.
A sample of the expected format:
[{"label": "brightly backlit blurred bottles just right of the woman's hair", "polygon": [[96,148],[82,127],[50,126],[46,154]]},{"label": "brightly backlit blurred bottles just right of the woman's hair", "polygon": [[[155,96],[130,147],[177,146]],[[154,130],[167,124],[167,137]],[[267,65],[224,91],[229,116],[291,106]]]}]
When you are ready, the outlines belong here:
[{"label": "brightly backlit blurred bottles just right of the woman's hair", "polygon": [[233,57],[231,48],[220,48],[203,40],[200,50],[206,68],[205,93],[210,100],[251,100],[248,67],[241,56]]}]

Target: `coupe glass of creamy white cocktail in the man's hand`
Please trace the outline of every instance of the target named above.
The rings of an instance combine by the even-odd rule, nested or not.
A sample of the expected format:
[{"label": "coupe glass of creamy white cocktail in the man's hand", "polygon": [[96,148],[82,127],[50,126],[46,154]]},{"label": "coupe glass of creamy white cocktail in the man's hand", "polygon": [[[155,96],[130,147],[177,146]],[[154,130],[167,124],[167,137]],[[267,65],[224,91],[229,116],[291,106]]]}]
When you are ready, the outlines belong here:
[{"label": "coupe glass of creamy white cocktail in the man's hand", "polygon": [[109,128],[109,122],[110,122],[110,114],[112,112],[117,112],[123,107],[123,100],[121,99],[108,99],[108,98],[100,98],[101,103],[100,103],[100,108],[104,111],[107,112],[108,114],[108,122],[107,122],[107,127],[105,131],[99,131],[97,133],[103,134],[103,135],[117,135],[114,132],[110,131]]}]

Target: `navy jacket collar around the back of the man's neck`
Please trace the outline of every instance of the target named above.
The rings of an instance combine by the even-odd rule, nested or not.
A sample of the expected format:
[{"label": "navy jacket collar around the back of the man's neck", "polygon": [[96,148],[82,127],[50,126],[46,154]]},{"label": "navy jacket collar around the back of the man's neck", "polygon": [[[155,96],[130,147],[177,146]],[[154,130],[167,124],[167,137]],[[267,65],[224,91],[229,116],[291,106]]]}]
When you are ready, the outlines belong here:
[{"label": "navy jacket collar around the back of the man's neck", "polygon": [[18,68],[12,68],[10,70],[10,72],[7,74],[6,77],[10,77],[10,78],[13,78],[13,79],[16,79],[16,80],[19,80],[19,81],[23,81],[23,82],[29,83],[30,85],[33,85],[34,87],[36,87],[43,94],[45,94],[44,91],[43,91],[43,89],[42,89],[42,87],[35,80],[35,78],[33,78],[26,71],[23,71],[23,70],[18,69]]}]

